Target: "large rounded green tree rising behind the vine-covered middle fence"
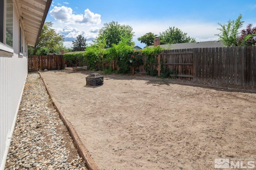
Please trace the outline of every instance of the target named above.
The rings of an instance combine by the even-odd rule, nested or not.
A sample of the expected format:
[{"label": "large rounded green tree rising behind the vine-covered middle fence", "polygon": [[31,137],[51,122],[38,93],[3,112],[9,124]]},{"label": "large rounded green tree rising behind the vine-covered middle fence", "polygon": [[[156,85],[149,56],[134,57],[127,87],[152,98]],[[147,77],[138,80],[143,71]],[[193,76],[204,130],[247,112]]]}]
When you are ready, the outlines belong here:
[{"label": "large rounded green tree rising behind the vine-covered middle fence", "polygon": [[128,25],[120,25],[118,22],[104,23],[104,26],[99,30],[96,41],[106,39],[106,48],[112,47],[113,44],[118,44],[121,41],[121,37],[128,39],[128,45],[134,44],[132,38],[134,32],[132,27]]}]

